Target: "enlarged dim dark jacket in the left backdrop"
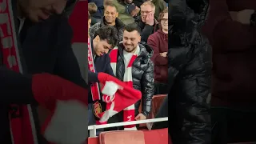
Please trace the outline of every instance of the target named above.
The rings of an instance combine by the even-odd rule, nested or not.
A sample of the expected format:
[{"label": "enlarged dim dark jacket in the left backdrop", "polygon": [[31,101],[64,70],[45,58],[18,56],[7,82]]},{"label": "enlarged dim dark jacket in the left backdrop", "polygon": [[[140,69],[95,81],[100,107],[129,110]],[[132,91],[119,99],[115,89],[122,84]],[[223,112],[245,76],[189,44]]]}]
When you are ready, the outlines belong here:
[{"label": "enlarged dim dark jacket in the left backdrop", "polygon": [[[72,30],[67,20],[67,15],[71,14],[75,2],[74,0],[68,1],[63,14],[52,15],[44,22],[34,23],[26,19],[18,40],[20,43],[19,48],[21,49],[19,51],[22,51],[20,54],[21,62],[23,64],[26,63],[26,66],[24,65],[23,67],[23,74],[7,70],[0,63],[0,143],[10,143],[9,109],[8,105],[2,103],[1,98],[33,98],[31,95],[30,74],[56,74],[79,86],[87,87],[71,48]],[[12,1],[12,4],[15,12],[17,2]],[[17,18],[15,13],[11,17]],[[18,22],[14,24],[18,27]],[[7,84],[11,86],[9,89],[4,88]],[[26,102],[28,101],[20,104],[26,104]],[[37,105],[36,103],[34,104]],[[44,141],[40,133],[38,114],[36,106],[32,105],[31,107],[36,129],[35,134],[40,144],[40,142]]]}]

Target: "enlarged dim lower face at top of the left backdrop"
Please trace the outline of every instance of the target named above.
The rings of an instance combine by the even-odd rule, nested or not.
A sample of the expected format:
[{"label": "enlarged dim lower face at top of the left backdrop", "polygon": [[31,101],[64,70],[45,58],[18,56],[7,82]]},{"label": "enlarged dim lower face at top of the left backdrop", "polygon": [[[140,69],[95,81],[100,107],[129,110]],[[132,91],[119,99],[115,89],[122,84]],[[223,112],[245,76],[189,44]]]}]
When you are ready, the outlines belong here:
[{"label": "enlarged dim lower face at top of the left backdrop", "polygon": [[67,0],[20,0],[18,10],[33,22],[46,20],[52,14],[62,14]]}]

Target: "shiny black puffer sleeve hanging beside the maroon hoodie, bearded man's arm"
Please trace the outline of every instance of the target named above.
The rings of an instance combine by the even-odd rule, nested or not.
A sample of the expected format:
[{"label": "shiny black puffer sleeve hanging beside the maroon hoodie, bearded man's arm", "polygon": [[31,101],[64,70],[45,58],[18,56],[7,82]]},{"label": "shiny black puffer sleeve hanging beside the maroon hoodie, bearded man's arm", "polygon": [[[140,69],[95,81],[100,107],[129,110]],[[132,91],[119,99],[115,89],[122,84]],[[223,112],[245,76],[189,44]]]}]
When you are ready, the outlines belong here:
[{"label": "shiny black puffer sleeve hanging beside the maroon hoodie, bearded man's arm", "polygon": [[154,63],[150,60],[148,68],[142,75],[142,114],[150,114],[152,97],[154,95]]}]

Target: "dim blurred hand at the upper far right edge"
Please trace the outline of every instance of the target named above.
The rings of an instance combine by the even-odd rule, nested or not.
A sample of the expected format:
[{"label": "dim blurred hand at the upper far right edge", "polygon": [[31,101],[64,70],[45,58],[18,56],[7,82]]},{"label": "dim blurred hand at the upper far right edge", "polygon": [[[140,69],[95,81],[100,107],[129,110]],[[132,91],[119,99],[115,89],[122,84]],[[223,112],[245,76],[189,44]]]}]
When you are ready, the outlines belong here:
[{"label": "dim blurred hand at the upper far right edge", "polygon": [[250,25],[251,14],[254,14],[254,10],[230,11],[233,21],[241,22],[244,25]]}]

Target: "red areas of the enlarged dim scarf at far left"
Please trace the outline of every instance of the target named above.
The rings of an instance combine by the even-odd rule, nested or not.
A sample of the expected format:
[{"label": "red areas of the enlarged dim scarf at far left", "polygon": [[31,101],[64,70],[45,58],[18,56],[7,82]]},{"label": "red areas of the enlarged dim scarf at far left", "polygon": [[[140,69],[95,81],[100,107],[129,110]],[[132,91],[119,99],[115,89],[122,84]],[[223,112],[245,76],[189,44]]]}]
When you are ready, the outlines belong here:
[{"label": "red areas of the enlarged dim scarf at far left", "polygon": [[[18,64],[18,46],[17,44],[17,38],[15,37],[14,33],[14,21],[12,20],[13,15],[11,15],[12,8],[11,8],[11,1],[8,0],[0,0],[0,3],[2,4],[2,8],[0,10],[0,14],[5,15],[7,14],[6,19],[2,19],[2,23],[0,24],[0,29],[2,30],[2,37],[0,38],[0,47],[3,47],[2,38],[11,38],[10,43],[11,47],[7,47],[6,49],[2,49],[1,52],[3,54],[3,63],[7,66],[7,68],[20,72]],[[6,6],[6,7],[5,7]],[[10,31],[8,31],[10,30]],[[8,42],[7,42],[8,43]],[[10,56],[13,56],[15,58],[15,63],[17,65],[10,66],[10,63],[8,62],[8,58]],[[10,131],[14,140],[14,144],[34,144],[34,136],[32,133],[32,126],[30,122],[30,118],[33,116],[30,115],[29,110],[30,106],[18,106],[18,105],[11,105],[10,107],[14,107],[15,109],[18,109],[15,114],[22,114],[21,118],[10,118]],[[10,110],[10,115],[13,113],[13,111]]]}]

